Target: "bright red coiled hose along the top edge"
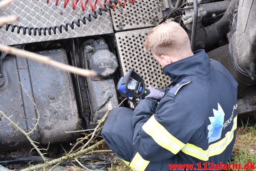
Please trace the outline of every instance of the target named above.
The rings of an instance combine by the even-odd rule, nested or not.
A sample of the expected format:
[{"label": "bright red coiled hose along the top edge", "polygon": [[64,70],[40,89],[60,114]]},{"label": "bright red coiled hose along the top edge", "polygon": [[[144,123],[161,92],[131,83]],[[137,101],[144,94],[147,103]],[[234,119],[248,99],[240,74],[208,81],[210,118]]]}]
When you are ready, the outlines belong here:
[{"label": "bright red coiled hose along the top edge", "polygon": [[[47,0],[47,3],[49,3],[49,1],[50,1],[50,0]],[[91,6],[91,10],[92,10],[92,11],[95,11],[95,9],[96,9],[96,7],[97,7],[97,6],[96,6],[96,5],[97,5],[97,2],[99,3],[99,6],[100,6],[100,7],[105,8],[105,6],[103,6],[103,5],[101,4],[100,0],[95,0],[94,4],[93,4],[93,2],[92,2],[91,0],[86,0],[86,1],[85,1],[85,4],[83,4],[83,0],[72,0],[73,10],[76,9],[77,3],[78,3],[79,1],[80,1],[80,3],[81,3],[81,7],[82,7],[82,10],[83,10],[83,11],[86,9],[86,6],[87,6],[87,3],[88,3],[88,2],[90,3],[90,6]],[[130,3],[134,3],[136,0],[128,0],[128,1],[129,1]],[[64,0],[64,8],[67,7],[68,2],[69,2],[69,0]],[[109,0],[105,0],[105,1],[104,1],[104,3],[106,3],[106,2],[107,2],[108,4],[111,3]],[[118,4],[119,4],[121,7],[124,7],[125,4],[126,4],[126,0],[124,0],[123,3],[120,2],[120,0],[117,0],[117,2],[118,2]],[[56,0],[55,5],[58,6],[58,3],[59,3],[59,0]],[[114,4],[114,6],[113,6],[112,9],[115,9],[115,7],[116,7],[116,4]]]}]

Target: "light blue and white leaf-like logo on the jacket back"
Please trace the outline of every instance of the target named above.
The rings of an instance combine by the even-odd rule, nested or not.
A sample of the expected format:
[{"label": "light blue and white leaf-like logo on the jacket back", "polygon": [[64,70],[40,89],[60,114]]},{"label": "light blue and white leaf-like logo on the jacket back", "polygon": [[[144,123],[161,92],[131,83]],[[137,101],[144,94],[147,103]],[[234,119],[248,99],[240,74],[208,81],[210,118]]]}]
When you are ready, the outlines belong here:
[{"label": "light blue and white leaf-like logo on the jacket back", "polygon": [[218,103],[218,110],[213,110],[213,117],[209,117],[211,124],[208,125],[208,143],[216,141],[221,137],[221,131],[223,128],[224,122],[224,111],[221,108],[220,104]]}]

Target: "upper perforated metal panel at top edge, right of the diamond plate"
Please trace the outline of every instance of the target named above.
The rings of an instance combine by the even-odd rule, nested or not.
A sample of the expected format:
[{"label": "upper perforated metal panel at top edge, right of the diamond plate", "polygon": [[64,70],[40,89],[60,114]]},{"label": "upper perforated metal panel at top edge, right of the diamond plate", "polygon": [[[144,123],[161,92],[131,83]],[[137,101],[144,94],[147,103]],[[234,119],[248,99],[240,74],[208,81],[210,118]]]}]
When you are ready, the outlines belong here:
[{"label": "upper perforated metal panel at top edge, right of the diamond plate", "polygon": [[162,0],[137,0],[111,11],[114,29],[127,30],[157,25],[165,9]]}]

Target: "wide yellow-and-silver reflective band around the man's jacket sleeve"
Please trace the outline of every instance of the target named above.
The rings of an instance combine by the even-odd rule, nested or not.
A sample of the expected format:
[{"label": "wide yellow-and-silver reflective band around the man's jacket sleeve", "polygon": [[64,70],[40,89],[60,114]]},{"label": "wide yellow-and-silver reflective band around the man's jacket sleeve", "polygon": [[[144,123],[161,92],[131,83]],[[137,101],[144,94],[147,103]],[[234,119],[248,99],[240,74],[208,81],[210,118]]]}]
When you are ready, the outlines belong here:
[{"label": "wide yellow-and-silver reflective band around the man's jacket sleeve", "polygon": [[154,115],[142,126],[142,129],[145,133],[150,135],[158,145],[169,150],[173,154],[177,154],[185,146],[184,143],[171,135],[161,124],[159,124]]}]

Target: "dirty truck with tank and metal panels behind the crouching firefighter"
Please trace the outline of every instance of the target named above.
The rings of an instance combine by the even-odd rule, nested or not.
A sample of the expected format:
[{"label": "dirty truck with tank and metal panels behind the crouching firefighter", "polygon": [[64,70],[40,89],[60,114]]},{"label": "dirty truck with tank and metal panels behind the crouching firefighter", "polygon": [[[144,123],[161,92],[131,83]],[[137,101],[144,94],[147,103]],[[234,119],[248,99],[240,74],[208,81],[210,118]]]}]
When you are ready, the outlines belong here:
[{"label": "dirty truck with tank and metal panels behind the crouching firefighter", "polygon": [[[139,73],[146,86],[169,84],[171,78],[143,47],[150,30],[167,18],[186,30],[194,50],[205,49],[210,59],[220,61],[232,73],[239,83],[238,114],[255,111],[254,0],[113,0],[95,4],[81,4],[81,9],[79,3],[65,2],[63,8],[62,2],[16,0],[0,10],[1,16],[20,17],[1,27],[1,44],[98,73],[97,78],[85,78],[1,53],[0,110],[29,131],[38,112],[28,93],[40,112],[33,141],[42,145],[70,142],[79,134],[66,131],[94,128],[123,100],[116,85],[130,70]],[[0,144],[0,151],[7,151],[29,142],[0,117]]]}]

